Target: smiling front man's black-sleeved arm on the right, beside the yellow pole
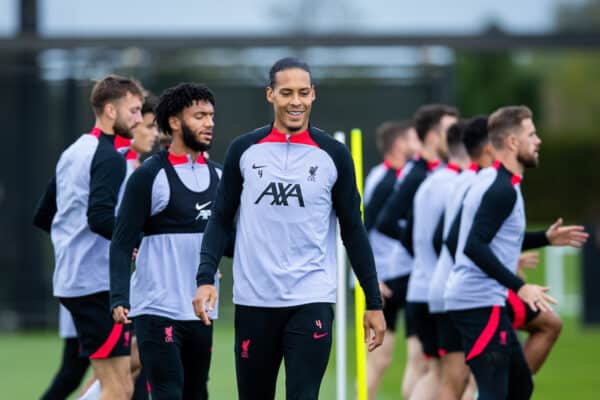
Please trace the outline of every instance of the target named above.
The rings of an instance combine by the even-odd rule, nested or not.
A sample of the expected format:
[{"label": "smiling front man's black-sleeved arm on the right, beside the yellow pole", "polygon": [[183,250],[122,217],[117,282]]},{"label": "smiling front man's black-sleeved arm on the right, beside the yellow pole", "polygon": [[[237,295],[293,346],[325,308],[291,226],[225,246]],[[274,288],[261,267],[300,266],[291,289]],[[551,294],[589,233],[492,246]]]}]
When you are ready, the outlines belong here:
[{"label": "smiling front man's black-sleeved arm on the right, beside the yellow pole", "polygon": [[373,251],[360,215],[360,195],[356,188],[354,165],[345,147],[341,147],[336,167],[338,177],[331,197],[340,222],[342,241],[352,269],[365,292],[367,310],[381,310],[381,294]]}]

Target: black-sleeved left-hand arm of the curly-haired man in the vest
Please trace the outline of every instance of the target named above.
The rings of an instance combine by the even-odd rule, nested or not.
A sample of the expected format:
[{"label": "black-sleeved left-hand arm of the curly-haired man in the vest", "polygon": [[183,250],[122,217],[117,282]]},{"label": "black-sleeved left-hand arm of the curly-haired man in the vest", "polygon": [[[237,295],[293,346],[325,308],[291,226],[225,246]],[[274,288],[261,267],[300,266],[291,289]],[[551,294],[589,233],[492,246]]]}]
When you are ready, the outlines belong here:
[{"label": "black-sleeved left-hand arm of the curly-haired man in the vest", "polygon": [[110,308],[129,305],[129,281],[133,249],[152,207],[156,171],[142,166],[129,178],[110,242]]}]

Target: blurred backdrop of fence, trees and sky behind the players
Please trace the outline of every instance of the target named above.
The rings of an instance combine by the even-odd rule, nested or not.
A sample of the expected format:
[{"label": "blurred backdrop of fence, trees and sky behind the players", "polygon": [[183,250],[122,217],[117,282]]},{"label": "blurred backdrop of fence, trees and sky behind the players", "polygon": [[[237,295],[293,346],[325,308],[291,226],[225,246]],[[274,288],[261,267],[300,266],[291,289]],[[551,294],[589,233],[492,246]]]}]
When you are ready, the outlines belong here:
[{"label": "blurred backdrop of fence, trees and sky behind the players", "polygon": [[[581,344],[582,359],[600,353],[600,331],[590,327],[600,323],[600,0],[0,0],[0,357],[23,358],[22,348],[39,346],[49,359],[25,374],[39,375],[29,391],[11,378],[18,368],[0,373],[16,390],[8,398],[34,398],[58,363],[52,248],[31,217],[62,150],[94,123],[94,79],[131,75],[156,94],[181,81],[208,84],[217,98],[211,157],[222,161],[233,137],[271,121],[268,69],[288,55],[313,69],[312,123],[362,129],[365,174],[380,162],[376,126],[410,118],[421,104],[453,104],[464,117],[530,106],[543,144],[541,167],[523,184],[528,222],[542,227],[563,216],[593,234],[583,254],[546,253],[557,266],[542,262],[530,279],[561,286],[566,327],[553,357],[570,340],[591,343]],[[230,285],[223,290],[222,326],[230,327]],[[540,379],[560,380],[552,364],[580,365],[574,354],[565,347]],[[558,384],[597,398],[600,368],[581,371]],[[389,379],[384,385],[399,393],[399,378]],[[324,390],[334,385],[327,382]],[[537,398],[557,392],[547,393]],[[390,396],[382,398],[399,398]]]}]

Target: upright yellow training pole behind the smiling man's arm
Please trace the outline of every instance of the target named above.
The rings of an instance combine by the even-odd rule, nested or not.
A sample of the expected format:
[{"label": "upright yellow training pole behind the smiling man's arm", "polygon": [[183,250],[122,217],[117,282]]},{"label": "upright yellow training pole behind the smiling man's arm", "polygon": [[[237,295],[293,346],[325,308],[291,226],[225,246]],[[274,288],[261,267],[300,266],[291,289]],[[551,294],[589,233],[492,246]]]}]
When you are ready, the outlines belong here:
[{"label": "upright yellow training pole behind the smiling man's arm", "polygon": [[[360,129],[352,129],[350,134],[352,146],[352,158],[356,171],[356,186],[360,194],[360,213],[363,214],[362,192],[363,192],[363,167],[362,167],[362,132]],[[364,218],[364,217],[363,217]],[[356,278],[355,278],[356,279]],[[365,293],[360,284],[356,282],[354,291],[354,314],[356,330],[356,380],[357,400],[367,400],[367,352],[365,350],[365,331],[363,328],[363,316],[365,315]]]}]

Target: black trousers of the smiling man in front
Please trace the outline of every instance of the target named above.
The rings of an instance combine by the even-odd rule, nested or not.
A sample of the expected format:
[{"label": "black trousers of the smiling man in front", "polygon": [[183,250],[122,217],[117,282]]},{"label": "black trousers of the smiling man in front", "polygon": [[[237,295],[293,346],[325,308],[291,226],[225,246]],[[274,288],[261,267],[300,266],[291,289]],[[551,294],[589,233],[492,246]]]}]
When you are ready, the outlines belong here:
[{"label": "black trousers of the smiling man in front", "polygon": [[285,362],[287,399],[317,399],[329,361],[329,303],[267,308],[235,306],[235,368],[240,400],[274,399]]}]

